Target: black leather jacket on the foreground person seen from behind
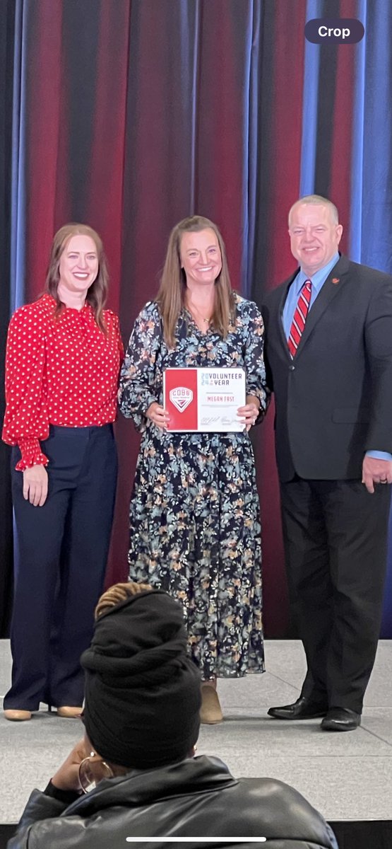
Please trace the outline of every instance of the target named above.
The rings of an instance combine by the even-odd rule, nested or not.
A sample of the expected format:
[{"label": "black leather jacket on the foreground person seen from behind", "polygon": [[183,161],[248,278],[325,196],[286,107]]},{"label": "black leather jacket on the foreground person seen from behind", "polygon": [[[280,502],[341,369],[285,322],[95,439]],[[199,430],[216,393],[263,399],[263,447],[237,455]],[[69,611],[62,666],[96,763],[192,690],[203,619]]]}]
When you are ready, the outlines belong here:
[{"label": "black leather jacket on the foreground person seen from behind", "polygon": [[[333,832],[300,793],[275,779],[233,779],[217,757],[107,779],[68,807],[34,790],[8,849],[146,849],[126,837],[221,837],[219,846],[338,849]],[[224,837],[238,844],[225,844]],[[244,837],[244,841],[239,838]],[[259,844],[247,837],[265,837]],[[167,849],[170,843],[154,843]],[[181,844],[179,844],[181,846]],[[192,849],[193,844],[184,844]],[[193,849],[201,849],[202,843]],[[213,844],[205,843],[209,849]]]}]

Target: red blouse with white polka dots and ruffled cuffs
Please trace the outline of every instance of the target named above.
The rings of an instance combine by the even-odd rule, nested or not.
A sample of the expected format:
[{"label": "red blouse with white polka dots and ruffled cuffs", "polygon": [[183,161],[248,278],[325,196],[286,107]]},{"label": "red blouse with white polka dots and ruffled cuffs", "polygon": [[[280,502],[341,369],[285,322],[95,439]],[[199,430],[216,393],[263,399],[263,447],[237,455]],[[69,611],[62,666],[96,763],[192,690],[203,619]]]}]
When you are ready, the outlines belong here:
[{"label": "red blouse with white polka dots and ruffled cuffs", "polygon": [[16,469],[47,464],[40,440],[49,424],[87,427],[113,422],[124,356],[119,319],[104,310],[107,335],[92,307],[64,307],[54,317],[52,295],[21,306],[9,323],[3,441],[20,447]]}]

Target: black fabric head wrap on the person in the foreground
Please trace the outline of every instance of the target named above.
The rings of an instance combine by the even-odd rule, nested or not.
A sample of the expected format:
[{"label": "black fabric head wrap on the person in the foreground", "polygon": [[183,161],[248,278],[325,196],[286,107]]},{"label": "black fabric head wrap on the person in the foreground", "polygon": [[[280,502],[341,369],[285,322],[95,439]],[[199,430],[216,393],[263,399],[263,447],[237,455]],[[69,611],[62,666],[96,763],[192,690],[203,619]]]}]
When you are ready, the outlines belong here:
[{"label": "black fabric head wrap on the person in the foreground", "polygon": [[179,602],[148,590],[112,607],[81,666],[85,728],[105,760],[143,769],[188,755],[199,734],[200,675]]}]

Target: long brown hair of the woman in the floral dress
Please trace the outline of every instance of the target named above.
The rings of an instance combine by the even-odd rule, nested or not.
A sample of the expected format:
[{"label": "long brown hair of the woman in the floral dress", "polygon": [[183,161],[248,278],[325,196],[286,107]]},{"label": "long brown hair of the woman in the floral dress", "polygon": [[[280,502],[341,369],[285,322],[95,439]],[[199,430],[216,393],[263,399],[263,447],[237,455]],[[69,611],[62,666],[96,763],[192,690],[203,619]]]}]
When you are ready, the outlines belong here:
[{"label": "long brown hair of the woman in the floral dress", "polygon": [[211,317],[211,325],[216,331],[226,338],[231,323],[235,321],[235,301],[230,283],[230,275],[227,267],[227,256],[225,243],[221,233],[210,218],[193,215],[183,218],[171,230],[169,243],[167,245],[165,265],[160,278],[160,289],[155,298],[160,306],[163,322],[163,333],[166,345],[174,348],[176,345],[175,329],[176,323],[185,303],[185,292],[187,289],[187,278],[181,267],[180,247],[183,233],[198,233],[200,230],[213,230],[218,239],[221,249],[221,273],[216,278],[214,312]]}]

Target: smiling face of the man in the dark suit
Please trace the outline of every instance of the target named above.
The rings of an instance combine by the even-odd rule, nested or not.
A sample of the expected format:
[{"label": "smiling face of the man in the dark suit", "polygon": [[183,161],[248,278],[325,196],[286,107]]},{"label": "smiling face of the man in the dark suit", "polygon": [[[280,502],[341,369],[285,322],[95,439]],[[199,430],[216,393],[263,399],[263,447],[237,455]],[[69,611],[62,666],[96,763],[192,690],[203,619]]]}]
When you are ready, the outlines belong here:
[{"label": "smiling face of the man in the dark suit", "polygon": [[322,204],[298,204],[290,214],[290,247],[305,274],[311,277],[328,265],[338,250],[343,233],[333,221],[332,207]]}]

